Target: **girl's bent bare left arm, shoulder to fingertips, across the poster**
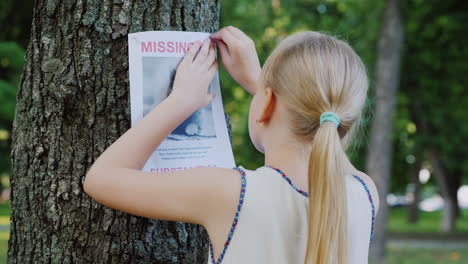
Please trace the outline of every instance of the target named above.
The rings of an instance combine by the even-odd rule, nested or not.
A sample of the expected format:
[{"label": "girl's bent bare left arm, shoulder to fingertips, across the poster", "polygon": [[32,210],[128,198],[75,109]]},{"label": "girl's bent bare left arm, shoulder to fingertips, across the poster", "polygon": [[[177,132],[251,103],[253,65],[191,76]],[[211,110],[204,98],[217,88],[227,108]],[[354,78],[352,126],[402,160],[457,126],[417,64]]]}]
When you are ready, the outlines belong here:
[{"label": "girl's bent bare left arm, shoulder to fingertips, across the poster", "polygon": [[[198,51],[198,54],[197,54]],[[141,168],[159,144],[213,98],[208,85],[218,68],[208,39],[196,42],[178,66],[173,91],[115,141],[89,169],[83,184],[97,202],[134,215],[206,226],[234,217],[241,177],[233,169],[198,167],[170,173]]]}]

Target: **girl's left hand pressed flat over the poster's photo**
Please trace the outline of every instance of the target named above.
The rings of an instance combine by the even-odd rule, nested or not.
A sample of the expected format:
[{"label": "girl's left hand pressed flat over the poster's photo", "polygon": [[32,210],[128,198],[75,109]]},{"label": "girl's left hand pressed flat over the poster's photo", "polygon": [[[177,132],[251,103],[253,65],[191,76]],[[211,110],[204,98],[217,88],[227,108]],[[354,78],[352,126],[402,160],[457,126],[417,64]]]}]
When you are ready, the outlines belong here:
[{"label": "girl's left hand pressed flat over the poster's photo", "polygon": [[169,97],[176,98],[183,107],[193,111],[205,107],[215,96],[208,93],[208,87],[217,70],[218,62],[214,45],[210,39],[206,39],[203,44],[197,40],[177,67]]}]

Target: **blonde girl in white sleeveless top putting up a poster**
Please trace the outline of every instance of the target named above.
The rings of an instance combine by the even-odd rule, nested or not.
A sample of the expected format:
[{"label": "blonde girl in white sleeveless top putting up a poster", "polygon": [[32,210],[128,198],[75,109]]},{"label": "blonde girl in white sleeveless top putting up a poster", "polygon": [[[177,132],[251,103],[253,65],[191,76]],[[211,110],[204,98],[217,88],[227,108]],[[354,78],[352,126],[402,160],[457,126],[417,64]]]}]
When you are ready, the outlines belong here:
[{"label": "blonde girl in white sleeveless top putting up a poster", "polygon": [[[237,28],[211,39],[186,53],[168,98],[96,160],[86,193],[131,214],[203,225],[211,264],[367,263],[377,189],[344,151],[366,100],[360,58],[341,40],[301,32],[283,40],[261,69],[253,41]],[[249,133],[265,165],[142,172],[164,138],[212,100],[213,42],[227,71],[253,95]]]}]

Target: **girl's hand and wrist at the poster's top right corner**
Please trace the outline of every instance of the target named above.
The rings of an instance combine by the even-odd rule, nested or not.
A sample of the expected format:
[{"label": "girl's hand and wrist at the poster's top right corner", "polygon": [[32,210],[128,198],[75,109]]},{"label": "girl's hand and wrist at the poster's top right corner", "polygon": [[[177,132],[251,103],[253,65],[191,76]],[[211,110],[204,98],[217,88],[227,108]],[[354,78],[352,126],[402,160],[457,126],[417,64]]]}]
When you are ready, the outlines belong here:
[{"label": "girl's hand and wrist at the poster's top right corner", "polygon": [[234,80],[254,95],[261,67],[253,40],[233,26],[220,29],[211,34],[210,38],[219,47],[224,68]]}]

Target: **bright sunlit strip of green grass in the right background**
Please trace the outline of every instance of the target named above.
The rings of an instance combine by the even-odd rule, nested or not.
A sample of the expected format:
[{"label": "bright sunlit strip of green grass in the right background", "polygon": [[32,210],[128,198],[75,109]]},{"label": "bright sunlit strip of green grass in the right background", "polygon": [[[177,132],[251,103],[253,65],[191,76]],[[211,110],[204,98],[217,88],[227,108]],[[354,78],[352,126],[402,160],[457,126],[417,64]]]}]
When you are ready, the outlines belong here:
[{"label": "bright sunlit strip of green grass in the right background", "polygon": [[[468,232],[468,210],[462,210],[456,222],[457,232]],[[408,210],[391,208],[388,230],[390,232],[440,232],[441,212],[420,212],[419,221],[410,224],[407,221]]]}]

